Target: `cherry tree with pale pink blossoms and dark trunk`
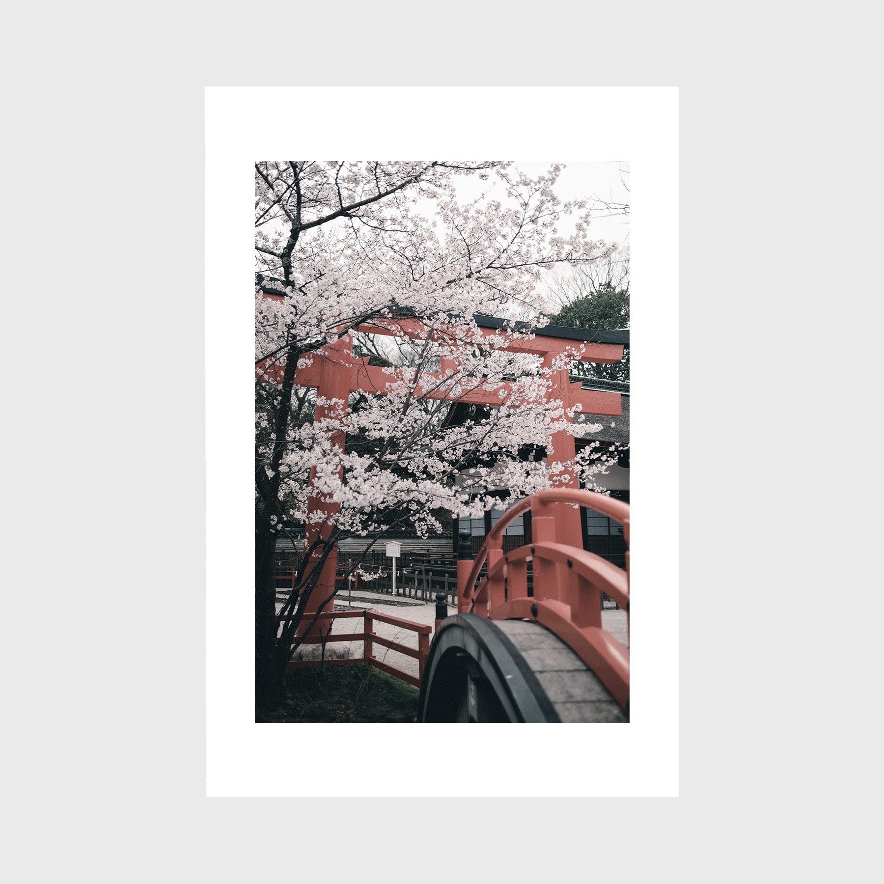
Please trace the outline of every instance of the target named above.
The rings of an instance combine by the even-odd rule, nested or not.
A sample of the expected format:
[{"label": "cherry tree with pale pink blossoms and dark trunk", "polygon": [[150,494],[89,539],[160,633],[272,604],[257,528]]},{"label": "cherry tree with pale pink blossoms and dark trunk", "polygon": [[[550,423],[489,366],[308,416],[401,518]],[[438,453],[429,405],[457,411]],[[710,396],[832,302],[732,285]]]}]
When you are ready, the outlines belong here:
[{"label": "cherry tree with pale pink blossoms and dark trunk", "polygon": [[[566,468],[520,458],[553,431],[582,431],[560,401],[546,398],[562,364],[518,352],[530,331],[489,334],[474,319],[532,316],[544,324],[536,306],[542,271],[609,254],[589,236],[586,202],[556,196],[561,168],[530,179],[494,162],[255,165],[259,704],[271,702],[299,645],[307,602],[339,540],[362,537],[368,552],[398,525],[421,536],[441,531],[439,510],[478,517],[499,507],[492,487],[514,500],[568,469],[590,487],[604,473],[609,459],[591,449]],[[487,182],[486,193],[459,198],[465,176]],[[569,215],[573,232],[564,236],[558,228]],[[328,347],[347,358],[373,354],[385,394],[352,392],[345,403],[296,384]],[[579,355],[578,345],[559,362]],[[477,391],[495,407],[446,426],[451,402]],[[311,506],[311,494],[335,512]],[[311,534],[311,525],[322,530]],[[309,543],[278,636],[275,548],[292,526],[306,529]]]}]

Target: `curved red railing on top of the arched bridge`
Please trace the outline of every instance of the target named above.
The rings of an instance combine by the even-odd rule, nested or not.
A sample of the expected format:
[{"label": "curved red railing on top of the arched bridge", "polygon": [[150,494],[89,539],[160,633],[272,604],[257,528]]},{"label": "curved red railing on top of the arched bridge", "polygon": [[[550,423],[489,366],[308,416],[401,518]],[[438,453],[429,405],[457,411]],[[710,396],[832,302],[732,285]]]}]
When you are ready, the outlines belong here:
[{"label": "curved red railing on top of the arched bridge", "polygon": [[[603,628],[601,610],[605,593],[626,611],[629,635],[629,552],[623,571],[575,546],[574,520],[562,517],[562,504],[587,507],[621,522],[629,543],[629,505],[623,501],[574,488],[537,492],[507,509],[475,560],[461,558],[458,611],[492,620],[527,619],[543,624],[583,659],[626,708],[629,650]],[[528,510],[533,542],[504,552],[503,531]],[[486,561],[487,573],[480,577]],[[533,574],[531,594],[528,562]]]}]

